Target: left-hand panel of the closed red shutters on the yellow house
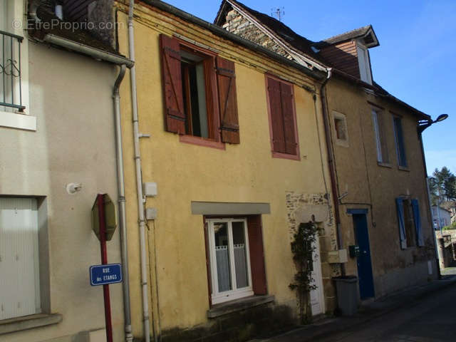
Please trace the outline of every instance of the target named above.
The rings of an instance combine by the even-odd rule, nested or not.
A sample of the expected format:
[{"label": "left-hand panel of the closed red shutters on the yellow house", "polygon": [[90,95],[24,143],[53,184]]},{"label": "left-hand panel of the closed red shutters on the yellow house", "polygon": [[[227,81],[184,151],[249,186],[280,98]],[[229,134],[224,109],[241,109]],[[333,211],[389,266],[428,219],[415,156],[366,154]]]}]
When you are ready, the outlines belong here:
[{"label": "left-hand panel of the closed red shutters on the yellow house", "polygon": [[281,106],[280,82],[268,78],[269,110],[271,111],[272,145],[274,152],[286,153],[284,118]]}]

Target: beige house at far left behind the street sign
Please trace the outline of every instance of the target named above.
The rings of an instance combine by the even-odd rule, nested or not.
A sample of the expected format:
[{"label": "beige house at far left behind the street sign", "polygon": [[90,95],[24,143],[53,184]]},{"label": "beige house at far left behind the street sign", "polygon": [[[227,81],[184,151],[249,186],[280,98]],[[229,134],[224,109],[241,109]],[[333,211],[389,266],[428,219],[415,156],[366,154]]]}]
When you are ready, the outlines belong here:
[{"label": "beige house at far left behind the street sign", "polygon": [[[53,2],[0,1],[4,342],[105,341],[103,289],[89,281],[89,267],[100,264],[90,209],[98,193],[118,199],[119,72],[103,58],[133,63],[87,31],[62,28]],[[120,262],[119,231],[108,261]],[[125,341],[122,286],[110,291],[114,341]]]}]

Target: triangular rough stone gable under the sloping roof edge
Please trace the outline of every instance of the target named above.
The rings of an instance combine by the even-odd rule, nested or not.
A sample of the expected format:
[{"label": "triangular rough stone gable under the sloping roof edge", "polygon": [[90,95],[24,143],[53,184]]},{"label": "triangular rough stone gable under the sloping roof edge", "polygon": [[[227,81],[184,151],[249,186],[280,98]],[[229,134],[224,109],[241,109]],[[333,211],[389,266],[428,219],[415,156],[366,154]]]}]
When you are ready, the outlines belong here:
[{"label": "triangular rough stone gable under the sloping roof edge", "polygon": [[222,28],[231,33],[237,34],[248,41],[264,46],[264,48],[268,48],[275,53],[279,53],[281,56],[292,59],[284,48],[275,43],[271,38],[269,38],[269,36],[266,35],[266,33],[259,30],[255,24],[244,18],[242,14],[239,14],[239,12],[234,9],[228,12],[227,21]]}]

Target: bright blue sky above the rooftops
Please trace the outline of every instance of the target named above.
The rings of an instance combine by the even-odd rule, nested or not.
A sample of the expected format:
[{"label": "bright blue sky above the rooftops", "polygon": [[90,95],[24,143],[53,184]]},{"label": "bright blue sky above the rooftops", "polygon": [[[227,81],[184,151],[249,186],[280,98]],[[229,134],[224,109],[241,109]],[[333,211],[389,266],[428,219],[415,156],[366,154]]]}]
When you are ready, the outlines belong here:
[{"label": "bright blue sky above the rooftops", "polygon": [[[212,22],[221,0],[166,0]],[[383,88],[436,118],[423,133],[427,170],[447,166],[456,173],[455,0],[241,0],[271,14],[284,7],[284,24],[314,41],[372,24],[380,46],[372,48],[373,78]]]}]

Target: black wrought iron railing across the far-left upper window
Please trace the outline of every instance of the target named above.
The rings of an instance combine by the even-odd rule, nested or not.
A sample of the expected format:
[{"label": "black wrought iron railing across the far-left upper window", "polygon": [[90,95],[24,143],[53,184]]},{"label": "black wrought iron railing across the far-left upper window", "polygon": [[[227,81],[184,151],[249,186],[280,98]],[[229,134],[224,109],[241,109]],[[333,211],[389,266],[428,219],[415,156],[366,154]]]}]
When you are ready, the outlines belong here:
[{"label": "black wrought iron railing across the far-left upper window", "polygon": [[22,41],[24,37],[0,31],[0,109],[25,109],[21,84]]}]

